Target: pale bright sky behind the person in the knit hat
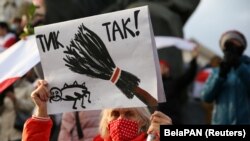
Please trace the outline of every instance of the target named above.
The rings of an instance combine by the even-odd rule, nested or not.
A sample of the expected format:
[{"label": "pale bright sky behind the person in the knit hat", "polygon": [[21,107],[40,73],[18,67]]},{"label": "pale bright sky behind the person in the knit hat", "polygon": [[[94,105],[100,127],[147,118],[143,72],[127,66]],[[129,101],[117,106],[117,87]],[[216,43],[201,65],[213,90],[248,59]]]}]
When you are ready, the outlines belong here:
[{"label": "pale bright sky behind the person in the knit hat", "polygon": [[184,26],[185,38],[193,38],[222,56],[219,48],[221,34],[235,29],[242,32],[250,55],[250,1],[249,0],[201,0]]}]

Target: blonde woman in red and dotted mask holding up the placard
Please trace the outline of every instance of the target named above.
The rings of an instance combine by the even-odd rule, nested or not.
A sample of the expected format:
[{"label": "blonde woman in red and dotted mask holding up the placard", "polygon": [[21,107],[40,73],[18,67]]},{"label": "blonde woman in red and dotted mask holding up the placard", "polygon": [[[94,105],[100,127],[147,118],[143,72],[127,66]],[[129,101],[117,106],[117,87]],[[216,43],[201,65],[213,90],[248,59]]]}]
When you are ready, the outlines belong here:
[{"label": "blonde woman in red and dotted mask holding up the placard", "polygon": [[[36,113],[25,123],[23,141],[49,141],[52,121],[47,114],[46,102],[49,99],[47,85],[44,80],[38,81],[37,88],[31,94],[36,104]],[[159,111],[155,111],[150,117],[146,108],[105,109],[102,111],[100,134],[94,140],[146,141],[147,134],[154,134],[155,141],[158,141],[160,124],[169,125],[172,121]]]}]

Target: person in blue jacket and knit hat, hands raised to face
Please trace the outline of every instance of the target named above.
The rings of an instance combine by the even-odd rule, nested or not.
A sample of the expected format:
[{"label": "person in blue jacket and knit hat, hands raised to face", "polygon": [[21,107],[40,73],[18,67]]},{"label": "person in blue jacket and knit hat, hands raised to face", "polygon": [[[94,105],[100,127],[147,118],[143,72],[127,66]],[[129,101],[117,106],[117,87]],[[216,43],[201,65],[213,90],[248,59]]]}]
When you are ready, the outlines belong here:
[{"label": "person in blue jacket and knit hat, hands raised to face", "polygon": [[250,124],[250,58],[243,55],[247,41],[239,31],[230,30],[219,43],[224,56],[201,98],[214,103],[212,124]]}]

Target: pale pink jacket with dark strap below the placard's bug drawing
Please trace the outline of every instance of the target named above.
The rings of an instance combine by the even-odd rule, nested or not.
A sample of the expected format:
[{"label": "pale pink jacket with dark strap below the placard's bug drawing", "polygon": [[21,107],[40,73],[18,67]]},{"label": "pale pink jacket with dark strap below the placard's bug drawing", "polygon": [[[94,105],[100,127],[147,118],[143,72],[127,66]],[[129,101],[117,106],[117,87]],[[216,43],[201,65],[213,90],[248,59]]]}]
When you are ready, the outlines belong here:
[{"label": "pale pink jacket with dark strap below the placard's bug drawing", "polygon": [[58,141],[93,141],[100,113],[100,110],[63,113]]}]

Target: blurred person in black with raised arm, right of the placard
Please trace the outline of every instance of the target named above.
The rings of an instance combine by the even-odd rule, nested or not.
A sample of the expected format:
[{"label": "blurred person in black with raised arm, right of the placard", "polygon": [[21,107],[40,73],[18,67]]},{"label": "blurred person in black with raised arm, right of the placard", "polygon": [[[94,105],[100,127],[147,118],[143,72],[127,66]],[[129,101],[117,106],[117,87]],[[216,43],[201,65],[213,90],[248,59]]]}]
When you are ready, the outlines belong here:
[{"label": "blurred person in black with raised arm, right of the placard", "polygon": [[192,60],[189,68],[177,78],[171,76],[171,67],[166,60],[160,60],[162,81],[167,102],[159,103],[158,109],[169,115],[173,124],[183,124],[182,109],[184,105],[183,94],[185,89],[193,82],[197,72],[198,47],[192,50]]}]

